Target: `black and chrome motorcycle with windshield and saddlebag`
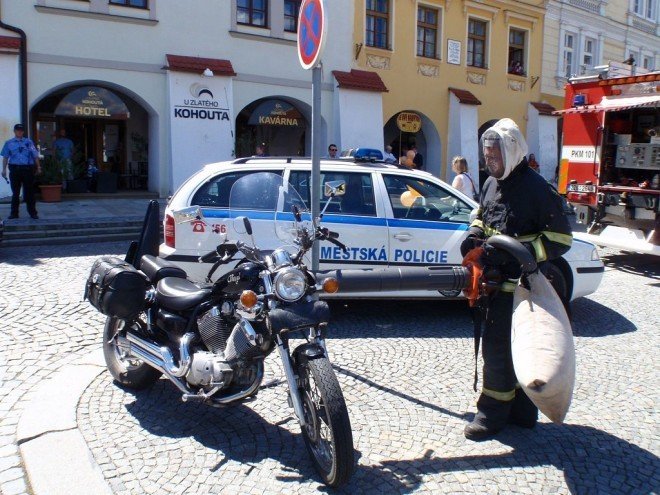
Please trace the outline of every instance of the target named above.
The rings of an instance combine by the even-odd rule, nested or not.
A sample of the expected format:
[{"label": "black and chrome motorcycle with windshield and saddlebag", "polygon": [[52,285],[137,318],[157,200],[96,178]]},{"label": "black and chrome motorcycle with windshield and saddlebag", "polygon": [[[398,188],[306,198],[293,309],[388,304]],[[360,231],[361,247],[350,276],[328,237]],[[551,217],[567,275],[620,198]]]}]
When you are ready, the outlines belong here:
[{"label": "black and chrome motorcycle with windshield and saddlebag", "polygon": [[[327,208],[344,193],[345,183],[326,183],[325,190]],[[311,459],[327,485],[342,485],[354,469],[353,436],[326,348],[330,311],[318,297],[320,291],[336,291],[337,281],[325,277],[317,283],[306,254],[320,240],[346,246],[311,219],[296,190],[279,175],[239,179],[229,205],[227,230],[234,238],[225,236],[199,258],[211,263],[205,284],[191,282],[179,267],[152,255],[141,257],[140,270],[117,258],[94,264],[87,296],[108,315],[103,332],[108,370],[133,389],[165,375],[184,401],[226,406],[257,395],[264,360],[277,349],[289,405]],[[255,206],[261,211],[253,229],[241,213]],[[198,207],[174,216],[179,224],[205,222]],[[273,227],[282,245],[260,249],[254,230]],[[216,270],[230,263],[236,265],[212,282]],[[146,281],[142,288],[139,279]],[[305,342],[292,350],[292,338]]]}]

